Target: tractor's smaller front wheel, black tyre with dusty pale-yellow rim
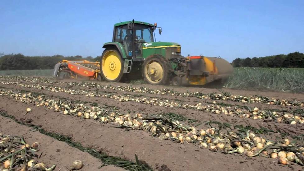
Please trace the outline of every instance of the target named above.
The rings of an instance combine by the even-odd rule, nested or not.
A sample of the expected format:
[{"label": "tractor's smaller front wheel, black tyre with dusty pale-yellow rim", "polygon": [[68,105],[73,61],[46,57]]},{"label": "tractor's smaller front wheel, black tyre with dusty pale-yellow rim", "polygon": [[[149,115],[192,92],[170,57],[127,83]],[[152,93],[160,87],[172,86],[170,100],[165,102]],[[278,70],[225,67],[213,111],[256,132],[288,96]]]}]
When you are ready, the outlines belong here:
[{"label": "tractor's smaller front wheel, black tyre with dusty pale-yellow rim", "polygon": [[142,75],[145,82],[155,85],[169,83],[171,66],[167,59],[161,55],[151,55],[145,59],[142,66]]}]

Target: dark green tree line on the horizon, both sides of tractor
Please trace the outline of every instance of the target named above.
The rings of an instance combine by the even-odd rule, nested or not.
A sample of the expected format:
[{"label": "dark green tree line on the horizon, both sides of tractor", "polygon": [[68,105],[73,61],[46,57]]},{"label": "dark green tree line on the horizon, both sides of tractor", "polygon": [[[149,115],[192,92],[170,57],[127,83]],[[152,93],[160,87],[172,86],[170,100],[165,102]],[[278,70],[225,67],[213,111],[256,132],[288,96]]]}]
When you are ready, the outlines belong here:
[{"label": "dark green tree line on the horizon, both sides of tractor", "polygon": [[[55,64],[63,59],[85,59],[91,62],[99,61],[100,56],[95,58],[88,56],[83,58],[80,55],[64,57],[54,56],[24,56],[21,53],[4,55],[0,53],[0,70],[33,70],[53,69]],[[236,58],[232,62],[233,67],[295,67],[304,68],[304,54],[299,52],[287,55],[273,55],[254,58]]]}]

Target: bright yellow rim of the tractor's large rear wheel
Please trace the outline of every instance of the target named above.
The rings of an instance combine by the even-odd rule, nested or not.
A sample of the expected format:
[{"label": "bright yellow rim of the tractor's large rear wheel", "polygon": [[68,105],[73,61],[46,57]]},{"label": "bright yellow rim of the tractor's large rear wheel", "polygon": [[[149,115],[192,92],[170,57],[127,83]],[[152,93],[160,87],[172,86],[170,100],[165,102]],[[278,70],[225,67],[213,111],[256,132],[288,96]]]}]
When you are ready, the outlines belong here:
[{"label": "bright yellow rim of the tractor's large rear wheel", "polygon": [[102,72],[108,80],[115,80],[121,72],[120,57],[115,51],[108,51],[102,58]]}]

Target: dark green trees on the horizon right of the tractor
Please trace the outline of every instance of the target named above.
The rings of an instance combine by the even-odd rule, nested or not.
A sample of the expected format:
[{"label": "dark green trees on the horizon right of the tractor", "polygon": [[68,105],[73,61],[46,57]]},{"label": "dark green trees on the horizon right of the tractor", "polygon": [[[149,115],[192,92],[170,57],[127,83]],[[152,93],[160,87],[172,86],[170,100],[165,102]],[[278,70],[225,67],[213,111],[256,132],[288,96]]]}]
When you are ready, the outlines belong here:
[{"label": "dark green trees on the horizon right of the tractor", "polygon": [[236,58],[233,67],[304,68],[304,54],[299,52],[254,58]]}]

